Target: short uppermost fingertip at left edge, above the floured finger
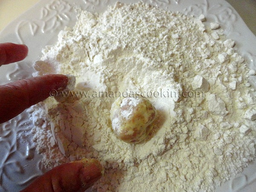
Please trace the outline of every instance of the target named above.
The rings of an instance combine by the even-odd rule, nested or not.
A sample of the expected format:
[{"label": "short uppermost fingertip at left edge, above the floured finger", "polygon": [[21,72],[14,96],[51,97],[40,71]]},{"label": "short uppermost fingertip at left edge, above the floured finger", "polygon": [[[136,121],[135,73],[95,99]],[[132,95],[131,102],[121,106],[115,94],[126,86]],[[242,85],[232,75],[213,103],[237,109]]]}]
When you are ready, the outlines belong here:
[{"label": "short uppermost fingertip at left edge, above the floured finger", "polygon": [[28,55],[26,45],[3,43],[0,44],[0,65],[23,60]]}]

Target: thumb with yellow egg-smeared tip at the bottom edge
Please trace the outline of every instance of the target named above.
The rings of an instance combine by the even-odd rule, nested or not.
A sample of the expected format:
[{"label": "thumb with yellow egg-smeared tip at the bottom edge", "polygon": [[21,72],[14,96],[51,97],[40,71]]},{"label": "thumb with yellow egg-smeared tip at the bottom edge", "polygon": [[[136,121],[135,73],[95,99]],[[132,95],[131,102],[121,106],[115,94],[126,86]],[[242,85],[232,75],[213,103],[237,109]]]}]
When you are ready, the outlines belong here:
[{"label": "thumb with yellow egg-smeared tip at the bottom edge", "polygon": [[83,192],[102,176],[96,159],[82,159],[55,167],[21,192]]}]

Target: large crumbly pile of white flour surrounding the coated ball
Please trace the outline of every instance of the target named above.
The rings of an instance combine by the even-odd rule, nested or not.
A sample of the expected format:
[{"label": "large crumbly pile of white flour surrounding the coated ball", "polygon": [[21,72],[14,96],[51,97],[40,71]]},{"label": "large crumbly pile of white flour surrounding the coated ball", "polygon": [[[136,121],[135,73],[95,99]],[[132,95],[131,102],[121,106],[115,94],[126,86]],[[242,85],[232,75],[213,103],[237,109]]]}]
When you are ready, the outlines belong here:
[{"label": "large crumbly pile of white flour surrounding the coated ball", "polygon": [[[200,19],[144,3],[81,12],[35,63],[36,75],[77,81],[68,98],[59,93],[29,109],[45,166],[97,158],[105,168],[93,186],[99,192],[212,191],[241,172],[255,156],[255,71],[217,23]],[[112,131],[119,93],[140,93],[157,110],[143,143]]]}]

